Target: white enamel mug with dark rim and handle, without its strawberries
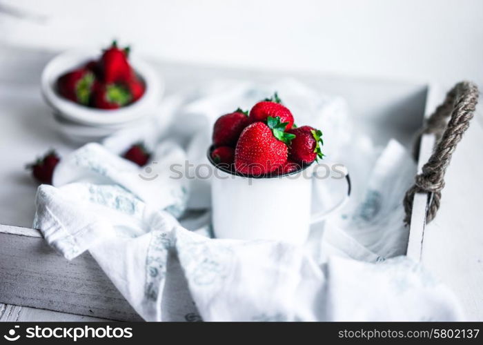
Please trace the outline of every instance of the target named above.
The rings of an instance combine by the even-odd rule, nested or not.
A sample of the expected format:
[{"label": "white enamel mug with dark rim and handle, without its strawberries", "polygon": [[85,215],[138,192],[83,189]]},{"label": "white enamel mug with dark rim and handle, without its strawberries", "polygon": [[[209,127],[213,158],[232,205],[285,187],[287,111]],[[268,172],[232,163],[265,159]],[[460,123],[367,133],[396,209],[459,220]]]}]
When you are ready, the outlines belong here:
[{"label": "white enamel mug with dark rim and handle, without its strawberries", "polygon": [[215,166],[211,202],[213,232],[217,238],[273,239],[301,245],[311,224],[344,206],[351,195],[346,168],[322,161],[325,169],[337,171],[338,179],[346,182],[347,189],[334,205],[311,213],[313,183],[340,183],[331,178],[317,178],[320,173],[314,169],[316,164],[274,177],[246,177],[217,166],[210,157],[212,150],[208,150],[208,160]]}]

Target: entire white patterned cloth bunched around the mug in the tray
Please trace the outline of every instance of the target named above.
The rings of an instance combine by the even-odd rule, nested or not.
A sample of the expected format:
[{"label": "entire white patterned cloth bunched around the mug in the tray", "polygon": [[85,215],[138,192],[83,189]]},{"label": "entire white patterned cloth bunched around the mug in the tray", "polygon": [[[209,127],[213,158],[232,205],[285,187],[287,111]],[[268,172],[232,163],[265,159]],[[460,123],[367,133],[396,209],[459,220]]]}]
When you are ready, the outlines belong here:
[{"label": "entire white patterned cloth bunched around the mug in the tray", "polygon": [[[170,167],[202,164],[216,117],[234,104],[248,108],[272,90],[299,124],[323,128],[331,158],[344,152],[357,186],[351,203],[313,226],[303,247],[210,238],[209,210],[177,220],[186,208],[209,208],[209,180],[173,179]],[[395,257],[407,242],[401,200],[415,172],[411,159],[396,141],[383,150],[355,135],[342,99],[290,80],[268,86],[219,81],[165,104],[166,116],[176,119],[170,129],[157,122],[79,148],[62,159],[54,186],[40,186],[36,200],[34,227],[47,242],[67,259],[88,250],[141,317],[462,319],[446,287],[410,259]],[[155,152],[149,171],[119,157],[139,139]]]}]

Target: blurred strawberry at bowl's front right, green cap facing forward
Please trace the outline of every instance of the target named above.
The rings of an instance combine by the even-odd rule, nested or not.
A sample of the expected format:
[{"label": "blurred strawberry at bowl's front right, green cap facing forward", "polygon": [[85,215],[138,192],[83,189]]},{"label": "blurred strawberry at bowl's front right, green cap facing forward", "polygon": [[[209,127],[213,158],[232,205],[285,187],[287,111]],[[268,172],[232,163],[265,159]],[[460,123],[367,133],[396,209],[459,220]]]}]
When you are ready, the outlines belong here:
[{"label": "blurred strawberry at bowl's front right, green cap facing forward", "polygon": [[95,83],[92,88],[92,106],[99,109],[117,109],[126,106],[132,97],[121,85]]}]

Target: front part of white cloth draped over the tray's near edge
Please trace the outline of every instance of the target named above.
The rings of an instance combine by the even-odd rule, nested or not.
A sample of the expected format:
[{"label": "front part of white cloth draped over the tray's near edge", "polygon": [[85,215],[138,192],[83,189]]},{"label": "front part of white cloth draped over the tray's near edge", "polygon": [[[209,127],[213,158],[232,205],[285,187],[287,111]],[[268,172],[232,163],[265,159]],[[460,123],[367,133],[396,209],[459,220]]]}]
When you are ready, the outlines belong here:
[{"label": "front part of white cloth draped over the tray's near edge", "polygon": [[462,317],[449,290],[405,257],[371,264],[334,255],[318,264],[282,242],[204,237],[128,195],[108,185],[43,185],[35,226],[70,259],[89,250],[148,321]]}]

